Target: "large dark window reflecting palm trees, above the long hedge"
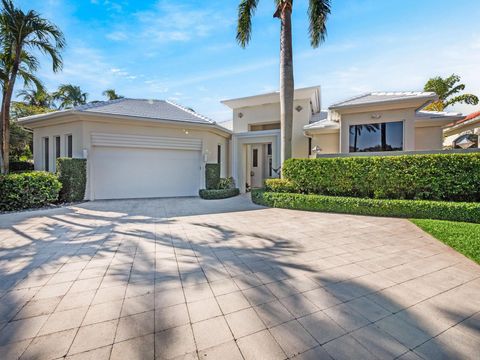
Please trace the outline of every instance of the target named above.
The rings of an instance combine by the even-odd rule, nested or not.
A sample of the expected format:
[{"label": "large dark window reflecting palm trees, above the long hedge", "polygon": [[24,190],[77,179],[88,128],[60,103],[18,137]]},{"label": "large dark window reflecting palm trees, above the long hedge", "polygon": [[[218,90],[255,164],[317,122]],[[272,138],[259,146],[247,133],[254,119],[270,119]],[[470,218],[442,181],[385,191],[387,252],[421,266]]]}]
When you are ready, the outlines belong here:
[{"label": "large dark window reflecting palm trees, above the long hedge", "polygon": [[350,152],[403,150],[403,121],[350,126]]}]

